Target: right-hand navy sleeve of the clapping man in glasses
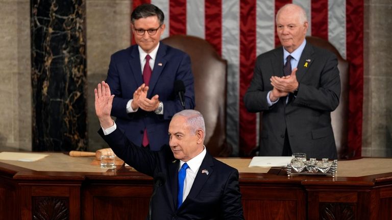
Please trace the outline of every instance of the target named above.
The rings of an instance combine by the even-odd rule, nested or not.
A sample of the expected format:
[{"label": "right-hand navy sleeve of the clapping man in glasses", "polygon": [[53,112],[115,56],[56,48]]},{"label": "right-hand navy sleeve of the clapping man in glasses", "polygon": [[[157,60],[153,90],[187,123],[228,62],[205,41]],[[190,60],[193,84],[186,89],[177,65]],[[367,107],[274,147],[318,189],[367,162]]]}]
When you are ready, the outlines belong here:
[{"label": "right-hand navy sleeve of the clapping man in glasses", "polygon": [[[172,61],[173,62],[173,61]],[[176,80],[182,80],[185,85],[185,108],[194,109],[194,81],[191,70],[190,58],[184,54],[181,56],[178,69],[176,71]],[[176,95],[175,100],[164,100],[163,103],[163,117],[164,119],[171,119],[174,114],[183,110],[180,102],[180,97]]]}]

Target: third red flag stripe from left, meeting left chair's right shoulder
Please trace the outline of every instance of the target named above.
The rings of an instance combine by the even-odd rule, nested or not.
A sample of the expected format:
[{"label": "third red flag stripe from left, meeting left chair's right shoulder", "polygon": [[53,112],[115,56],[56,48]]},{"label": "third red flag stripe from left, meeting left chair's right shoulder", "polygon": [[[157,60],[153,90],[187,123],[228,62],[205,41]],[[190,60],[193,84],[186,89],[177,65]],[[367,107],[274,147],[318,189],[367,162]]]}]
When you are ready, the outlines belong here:
[{"label": "third red flag stripe from left, meeting left chair's right shoulder", "polygon": [[222,0],[205,2],[205,39],[222,56]]}]

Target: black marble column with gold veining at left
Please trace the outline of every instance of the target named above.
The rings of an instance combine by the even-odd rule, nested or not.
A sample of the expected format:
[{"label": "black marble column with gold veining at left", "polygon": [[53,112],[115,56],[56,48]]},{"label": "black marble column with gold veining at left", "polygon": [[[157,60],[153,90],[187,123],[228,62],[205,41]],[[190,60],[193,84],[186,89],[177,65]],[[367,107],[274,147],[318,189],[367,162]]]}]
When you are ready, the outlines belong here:
[{"label": "black marble column with gold veining at left", "polygon": [[31,0],[33,151],[85,150],[85,0]]}]

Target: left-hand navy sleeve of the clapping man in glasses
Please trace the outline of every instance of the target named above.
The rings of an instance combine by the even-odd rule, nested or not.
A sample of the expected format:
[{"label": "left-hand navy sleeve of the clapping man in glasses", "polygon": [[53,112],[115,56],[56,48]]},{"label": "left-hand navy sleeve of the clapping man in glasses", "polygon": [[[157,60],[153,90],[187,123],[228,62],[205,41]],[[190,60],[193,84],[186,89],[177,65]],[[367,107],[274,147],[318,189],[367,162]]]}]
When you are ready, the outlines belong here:
[{"label": "left-hand navy sleeve of the clapping man in glasses", "polygon": [[112,94],[114,94],[111,115],[123,119],[129,119],[129,115],[127,113],[127,103],[130,99],[129,98],[125,99],[123,97],[124,95],[122,94],[120,77],[118,74],[117,64],[115,62],[114,55],[112,55],[110,58],[106,83],[109,84],[110,91]]}]

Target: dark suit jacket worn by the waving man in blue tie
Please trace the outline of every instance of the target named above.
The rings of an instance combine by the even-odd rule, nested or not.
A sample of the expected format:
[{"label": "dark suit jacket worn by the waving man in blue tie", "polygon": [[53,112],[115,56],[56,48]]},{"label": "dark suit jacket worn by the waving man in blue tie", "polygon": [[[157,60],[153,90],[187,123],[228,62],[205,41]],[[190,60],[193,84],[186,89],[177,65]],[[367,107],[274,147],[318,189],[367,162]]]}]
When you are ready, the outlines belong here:
[{"label": "dark suit jacket worn by the waving man in blue tie", "polygon": [[243,219],[237,169],[207,152],[187,198],[177,209],[180,161],[168,145],[160,151],[149,151],[130,142],[118,129],[109,135],[104,135],[102,129],[99,133],[114,153],[138,172],[151,177],[164,175],[164,184],[152,200],[152,219]]}]

